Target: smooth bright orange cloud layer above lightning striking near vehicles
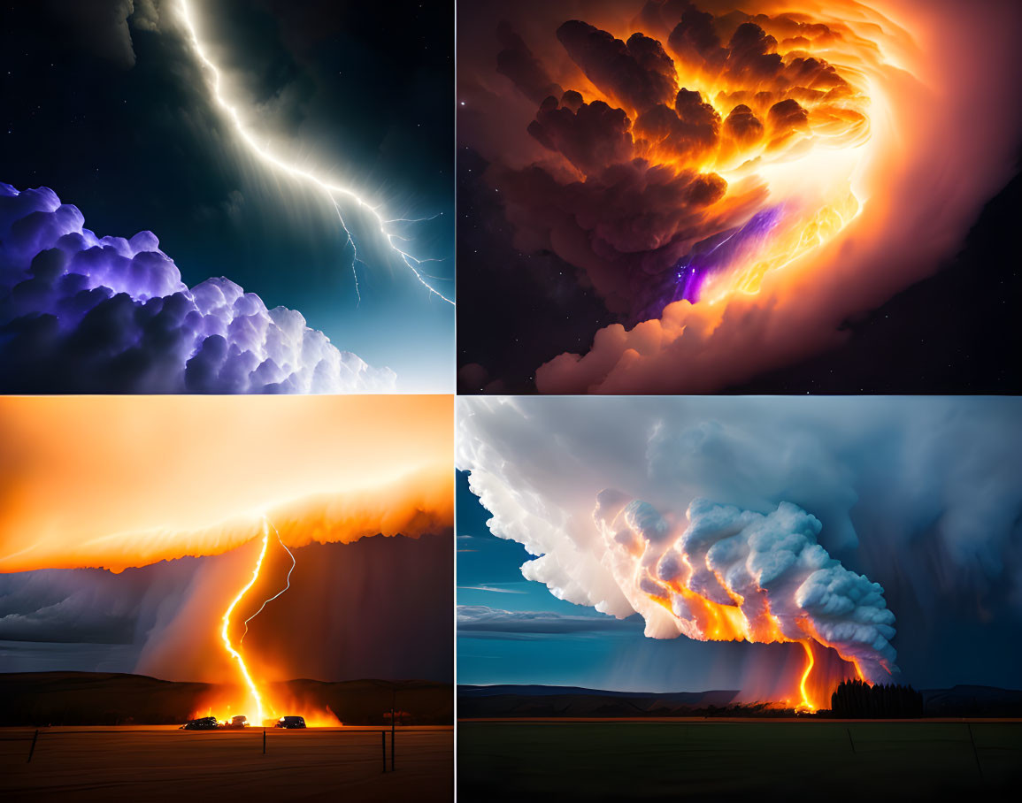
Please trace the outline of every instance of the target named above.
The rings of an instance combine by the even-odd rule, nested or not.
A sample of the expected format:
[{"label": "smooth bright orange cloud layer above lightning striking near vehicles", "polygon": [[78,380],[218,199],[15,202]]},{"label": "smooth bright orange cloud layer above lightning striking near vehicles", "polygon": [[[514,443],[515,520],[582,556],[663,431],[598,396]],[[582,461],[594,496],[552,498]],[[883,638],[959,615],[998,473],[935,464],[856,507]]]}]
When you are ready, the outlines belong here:
[{"label": "smooth bright orange cloud layer above lightning striking near vehicles", "polygon": [[3,398],[0,437],[0,571],[453,522],[450,396]]}]

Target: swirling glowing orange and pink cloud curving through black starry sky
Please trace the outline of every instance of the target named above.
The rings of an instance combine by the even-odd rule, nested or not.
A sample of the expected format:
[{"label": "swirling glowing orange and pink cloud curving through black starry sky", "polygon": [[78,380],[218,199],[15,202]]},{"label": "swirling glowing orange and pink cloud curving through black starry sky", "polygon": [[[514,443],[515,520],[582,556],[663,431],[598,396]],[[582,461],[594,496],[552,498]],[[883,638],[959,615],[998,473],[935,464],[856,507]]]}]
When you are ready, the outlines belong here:
[{"label": "swirling glowing orange and pink cloud curving through black starry sky", "polygon": [[[701,0],[695,5],[718,17],[735,10],[750,14],[772,35],[776,43],[770,52],[784,58],[784,76],[794,76],[794,89],[785,91],[797,97],[792,94],[785,102],[797,99],[804,120],[784,131],[777,115],[777,136],[772,134],[773,109],[757,98],[759,90],[773,90],[764,94],[773,101],[778,88],[750,84],[746,75],[735,81],[731,67],[713,62],[704,69],[698,59],[686,58],[681,45],[670,49],[669,28],[657,29],[647,14],[656,4],[647,4],[646,11],[638,1],[579,4],[579,18],[619,40],[639,33],[664,42],[677,70],[665,75],[666,86],[700,91],[703,110],[692,120],[705,119],[704,127],[718,137],[702,150],[684,140],[687,150],[681,157],[671,149],[680,135],[669,133],[677,121],[667,115],[670,126],[659,119],[640,125],[644,112],[608,90],[612,81],[601,86],[593,70],[587,74],[564,58],[549,33],[541,39],[538,31],[552,31],[549,23],[556,27],[571,12],[552,8],[545,26],[527,20],[537,29],[527,32],[528,40],[550,65],[550,78],[579,93],[558,102],[623,107],[633,121],[629,159],[642,157],[721,180],[726,192],[692,211],[690,228],[737,226],[768,201],[783,206],[784,225],[761,248],[743,254],[737,268],[710,276],[698,302],[673,300],[662,313],[644,309],[635,319],[640,323],[607,326],[588,350],[565,352],[541,366],[536,374],[541,392],[713,392],[838,345],[847,336],[841,324],[848,316],[875,308],[934,272],[962,243],[982,204],[1014,173],[1020,115],[1017,104],[1005,99],[1015,97],[1019,87],[1015,31],[1022,17],[1017,4],[991,2],[979,9],[947,0]],[[797,36],[787,33],[796,22],[804,30]],[[802,85],[795,67],[817,58],[833,74],[821,73],[816,83]],[[585,63],[584,57],[578,60]],[[507,91],[496,84],[489,89]],[[747,141],[727,124],[736,104],[760,124]],[[543,164],[564,183],[597,171],[602,164],[569,163],[571,151],[558,145],[557,127],[545,125],[545,115],[562,112],[567,116],[564,105],[551,104],[537,119],[533,132],[540,136],[533,133],[533,138],[546,150],[533,142],[515,146],[505,157],[503,152],[512,150],[508,147],[501,151],[502,160],[511,169]],[[698,126],[691,123],[690,129]],[[504,145],[507,138],[493,140]],[[552,155],[557,149],[565,157]],[[517,206],[510,206],[512,217],[521,217]],[[666,218],[678,210],[657,211]],[[572,226],[578,218],[570,219]],[[622,295],[626,309],[628,293],[635,292],[625,282],[631,275],[622,279],[609,257],[586,250],[577,237],[558,229],[543,240],[542,233],[519,232],[516,244],[523,250],[552,247],[586,272],[608,309],[620,312]],[[679,253],[670,255],[682,256],[691,245],[681,236],[678,241]],[[648,249],[671,247],[653,238]]]}]

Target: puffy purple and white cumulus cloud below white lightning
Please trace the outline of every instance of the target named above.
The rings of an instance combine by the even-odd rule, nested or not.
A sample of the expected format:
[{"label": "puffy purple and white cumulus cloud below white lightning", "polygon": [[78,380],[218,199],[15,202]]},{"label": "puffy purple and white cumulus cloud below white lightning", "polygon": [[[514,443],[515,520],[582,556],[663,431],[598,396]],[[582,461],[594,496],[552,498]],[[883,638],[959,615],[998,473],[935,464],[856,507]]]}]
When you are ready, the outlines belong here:
[{"label": "puffy purple and white cumulus cloud below white lightning", "polygon": [[344,393],[396,375],[226,278],[192,288],[159,241],[97,237],[45,187],[0,183],[0,391]]}]

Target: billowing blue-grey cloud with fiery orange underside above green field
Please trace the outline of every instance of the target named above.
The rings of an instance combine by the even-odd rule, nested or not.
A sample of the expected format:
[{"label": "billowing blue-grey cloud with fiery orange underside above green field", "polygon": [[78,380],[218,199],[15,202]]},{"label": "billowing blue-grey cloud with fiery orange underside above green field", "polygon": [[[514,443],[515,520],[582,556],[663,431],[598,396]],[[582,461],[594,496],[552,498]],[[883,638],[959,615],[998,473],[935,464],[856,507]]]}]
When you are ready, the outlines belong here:
[{"label": "billowing blue-grey cloud with fiery orange underside above green field", "polygon": [[688,526],[649,503],[599,495],[605,563],[646,619],[646,634],[697,641],[807,642],[833,647],[872,682],[896,667],[894,615],[883,588],[817,542],[820,520],[782,502],[765,516],[706,500]]}]

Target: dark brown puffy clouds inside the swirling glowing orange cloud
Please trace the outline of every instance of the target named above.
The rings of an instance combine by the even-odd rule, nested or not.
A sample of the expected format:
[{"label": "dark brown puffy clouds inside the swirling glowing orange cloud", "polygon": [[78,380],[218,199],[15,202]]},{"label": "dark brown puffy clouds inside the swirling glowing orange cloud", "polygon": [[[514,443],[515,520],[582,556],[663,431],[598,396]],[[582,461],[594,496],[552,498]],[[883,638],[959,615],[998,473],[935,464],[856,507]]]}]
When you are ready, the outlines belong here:
[{"label": "dark brown puffy clouds inside the swirling glowing orange cloud", "polygon": [[[671,51],[712,67],[730,86],[744,87],[718,94],[717,101],[733,104],[726,122],[700,92],[678,86],[673,61],[656,39],[635,34],[623,42],[572,19],[557,29],[557,39],[612,103],[587,102],[573,89],[559,99],[548,95],[527,131],[585,180],[566,183],[546,162],[487,173],[516,229],[516,245],[526,252],[553,251],[580,269],[582,285],[594,287],[607,310],[628,324],[658,315],[665,294],[676,291],[669,272],[678,261],[696,243],[738,225],[764,195],[761,187],[746,185],[745,195],[716,210],[728,186],[703,160],[718,147],[732,153],[756,143],[766,125],[772,149],[787,147],[808,133],[806,108],[788,95],[811,102],[844,87],[822,59],[796,56],[785,64],[773,52],[776,38],[747,15],[715,18],[685,4],[668,5],[647,12],[659,15],[654,29],[670,31]],[[681,17],[672,30],[663,21],[671,14]],[[504,46],[498,72],[526,96],[560,89],[509,23],[501,23],[498,39]]]}]

